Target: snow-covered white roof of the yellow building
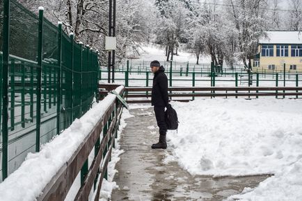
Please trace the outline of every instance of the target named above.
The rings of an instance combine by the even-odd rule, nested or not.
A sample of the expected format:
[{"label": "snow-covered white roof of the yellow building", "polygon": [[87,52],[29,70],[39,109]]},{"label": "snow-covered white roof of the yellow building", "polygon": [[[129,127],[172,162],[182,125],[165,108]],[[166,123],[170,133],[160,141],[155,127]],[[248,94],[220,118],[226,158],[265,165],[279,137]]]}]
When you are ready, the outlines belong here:
[{"label": "snow-covered white roof of the yellow building", "polygon": [[259,40],[260,44],[302,44],[300,31],[267,31],[267,37]]}]

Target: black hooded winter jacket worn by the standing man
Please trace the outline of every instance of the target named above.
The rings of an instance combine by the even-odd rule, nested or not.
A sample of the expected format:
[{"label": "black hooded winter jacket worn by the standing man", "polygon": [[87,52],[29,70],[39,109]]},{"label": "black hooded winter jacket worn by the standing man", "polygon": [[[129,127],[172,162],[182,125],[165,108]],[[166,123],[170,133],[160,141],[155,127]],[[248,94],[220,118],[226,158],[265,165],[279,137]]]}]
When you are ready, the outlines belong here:
[{"label": "black hooded winter jacket worn by the standing man", "polygon": [[161,66],[154,73],[151,104],[155,106],[168,105],[168,78],[164,71],[165,68]]}]

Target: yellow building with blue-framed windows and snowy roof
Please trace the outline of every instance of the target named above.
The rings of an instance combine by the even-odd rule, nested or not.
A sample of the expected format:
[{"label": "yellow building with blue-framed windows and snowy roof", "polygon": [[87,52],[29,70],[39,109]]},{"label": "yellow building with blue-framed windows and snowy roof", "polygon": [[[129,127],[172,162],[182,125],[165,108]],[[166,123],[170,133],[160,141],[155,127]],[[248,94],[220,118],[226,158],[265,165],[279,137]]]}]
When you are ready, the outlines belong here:
[{"label": "yellow building with blue-framed windows and snowy roof", "polygon": [[259,41],[253,71],[302,71],[302,32],[267,31]]}]

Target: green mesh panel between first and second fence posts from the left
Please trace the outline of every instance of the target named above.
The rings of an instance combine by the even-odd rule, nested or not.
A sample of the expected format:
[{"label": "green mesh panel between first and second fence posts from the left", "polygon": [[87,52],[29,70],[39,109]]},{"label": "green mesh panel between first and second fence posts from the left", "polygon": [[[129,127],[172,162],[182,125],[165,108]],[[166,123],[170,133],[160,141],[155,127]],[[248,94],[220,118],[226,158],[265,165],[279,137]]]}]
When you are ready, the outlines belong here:
[{"label": "green mesh panel between first and second fence posts from the left", "polygon": [[38,17],[16,1],[10,1],[9,47],[8,174],[22,164],[28,152],[35,150]]}]

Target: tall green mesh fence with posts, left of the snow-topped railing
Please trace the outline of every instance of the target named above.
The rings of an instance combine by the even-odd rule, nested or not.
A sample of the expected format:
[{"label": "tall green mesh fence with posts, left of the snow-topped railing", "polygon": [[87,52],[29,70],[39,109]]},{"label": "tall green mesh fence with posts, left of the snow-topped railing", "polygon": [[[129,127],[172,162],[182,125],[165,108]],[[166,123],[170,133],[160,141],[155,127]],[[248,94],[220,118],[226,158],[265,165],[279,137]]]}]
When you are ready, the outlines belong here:
[{"label": "tall green mesh fence with posts, left of the snow-topped railing", "polygon": [[0,182],[97,95],[97,53],[15,0],[0,5]]}]

